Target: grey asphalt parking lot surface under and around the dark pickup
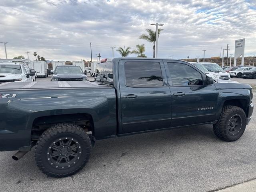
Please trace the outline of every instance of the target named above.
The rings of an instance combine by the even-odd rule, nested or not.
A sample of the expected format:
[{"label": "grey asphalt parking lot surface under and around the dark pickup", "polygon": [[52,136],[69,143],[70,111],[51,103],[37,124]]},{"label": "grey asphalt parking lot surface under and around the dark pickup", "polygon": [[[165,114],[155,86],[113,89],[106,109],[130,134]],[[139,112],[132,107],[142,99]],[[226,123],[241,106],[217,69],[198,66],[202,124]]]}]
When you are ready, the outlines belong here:
[{"label": "grey asphalt parking lot surface under and around the dark pickup", "polygon": [[236,142],[216,138],[211,125],[99,140],[84,169],[67,178],[42,174],[33,150],[17,162],[14,152],[0,152],[0,191],[208,192],[232,186],[256,178],[255,116]]}]

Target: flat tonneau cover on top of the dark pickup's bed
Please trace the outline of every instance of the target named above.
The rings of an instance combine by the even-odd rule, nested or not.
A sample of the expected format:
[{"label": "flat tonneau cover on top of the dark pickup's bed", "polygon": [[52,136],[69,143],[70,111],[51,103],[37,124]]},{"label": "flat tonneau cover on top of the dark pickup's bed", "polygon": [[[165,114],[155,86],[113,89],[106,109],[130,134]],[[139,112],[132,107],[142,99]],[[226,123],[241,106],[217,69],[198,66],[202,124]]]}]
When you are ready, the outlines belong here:
[{"label": "flat tonneau cover on top of the dark pickup's bed", "polygon": [[100,82],[56,81],[56,82],[6,82],[0,84],[0,90],[27,89],[63,89],[63,88],[110,88]]}]

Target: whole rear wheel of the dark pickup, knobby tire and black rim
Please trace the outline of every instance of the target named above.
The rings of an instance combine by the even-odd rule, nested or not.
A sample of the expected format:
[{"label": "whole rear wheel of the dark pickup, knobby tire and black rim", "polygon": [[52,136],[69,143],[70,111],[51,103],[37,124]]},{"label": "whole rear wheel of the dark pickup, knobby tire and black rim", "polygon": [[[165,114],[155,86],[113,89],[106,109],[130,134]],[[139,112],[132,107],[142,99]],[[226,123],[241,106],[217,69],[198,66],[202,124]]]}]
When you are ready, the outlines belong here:
[{"label": "whole rear wheel of the dark pickup, knobby tire and black rim", "polygon": [[70,176],[86,165],[91,149],[91,140],[80,126],[56,124],[40,136],[35,149],[36,164],[48,176]]}]

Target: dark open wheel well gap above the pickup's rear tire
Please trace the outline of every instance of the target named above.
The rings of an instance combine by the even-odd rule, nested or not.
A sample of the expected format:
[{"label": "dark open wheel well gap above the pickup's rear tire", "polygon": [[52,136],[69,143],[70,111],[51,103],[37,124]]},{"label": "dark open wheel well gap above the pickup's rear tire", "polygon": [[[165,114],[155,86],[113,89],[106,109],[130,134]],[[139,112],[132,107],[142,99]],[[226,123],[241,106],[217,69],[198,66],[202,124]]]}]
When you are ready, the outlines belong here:
[{"label": "dark open wheel well gap above the pickup's rear tire", "polygon": [[31,129],[31,138],[39,138],[42,133],[54,124],[70,122],[81,126],[85,131],[92,131],[94,134],[94,120],[91,114],[56,114],[50,116],[40,116],[34,119]]}]

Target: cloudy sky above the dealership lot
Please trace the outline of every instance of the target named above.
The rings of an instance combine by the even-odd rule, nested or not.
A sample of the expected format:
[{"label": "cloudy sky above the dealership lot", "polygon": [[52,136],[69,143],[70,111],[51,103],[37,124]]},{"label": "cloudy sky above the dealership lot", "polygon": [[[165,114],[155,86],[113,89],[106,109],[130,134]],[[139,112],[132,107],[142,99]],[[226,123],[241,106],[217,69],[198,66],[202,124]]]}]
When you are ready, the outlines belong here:
[{"label": "cloudy sky above the dealership lot", "polygon": [[[159,57],[220,56],[245,38],[245,54],[256,54],[256,0],[0,0],[0,42],[8,58],[29,51],[48,60],[112,57],[110,47],[152,44],[138,39],[151,23],[162,23]],[[116,50],[116,49],[115,49]],[[114,56],[120,56],[114,51]],[[136,55],[131,55],[136,56]],[[0,44],[0,58],[5,58]]]}]

